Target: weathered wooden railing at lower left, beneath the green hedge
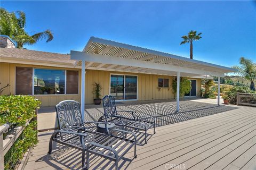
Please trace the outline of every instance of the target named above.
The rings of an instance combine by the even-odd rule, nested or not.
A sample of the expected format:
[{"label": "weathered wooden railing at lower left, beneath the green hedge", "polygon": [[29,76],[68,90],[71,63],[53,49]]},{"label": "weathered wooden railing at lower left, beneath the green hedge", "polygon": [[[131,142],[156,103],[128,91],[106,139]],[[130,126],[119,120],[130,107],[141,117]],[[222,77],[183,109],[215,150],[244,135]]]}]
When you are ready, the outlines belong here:
[{"label": "weathered wooden railing at lower left, beneath the green hedge", "polygon": [[[37,115],[37,109],[36,109],[36,115]],[[37,120],[37,116],[33,118],[33,120]],[[28,120],[25,127],[29,124],[31,120]],[[17,151],[13,143],[21,137],[23,130],[25,129],[22,126],[14,127],[10,131],[7,132],[7,130],[10,128],[10,124],[4,124],[0,126],[0,170],[2,169],[17,169],[18,166],[19,169],[23,169],[23,165],[20,165],[20,160],[17,160],[17,162],[13,161],[15,158],[15,152]],[[6,133],[7,132],[7,133]],[[4,139],[4,134],[6,134],[6,137]],[[31,148],[30,150],[31,151]],[[27,157],[28,158],[28,157]],[[23,161],[25,164],[27,163],[27,158]],[[10,164],[11,166],[9,168],[6,168],[7,164]]]}]

